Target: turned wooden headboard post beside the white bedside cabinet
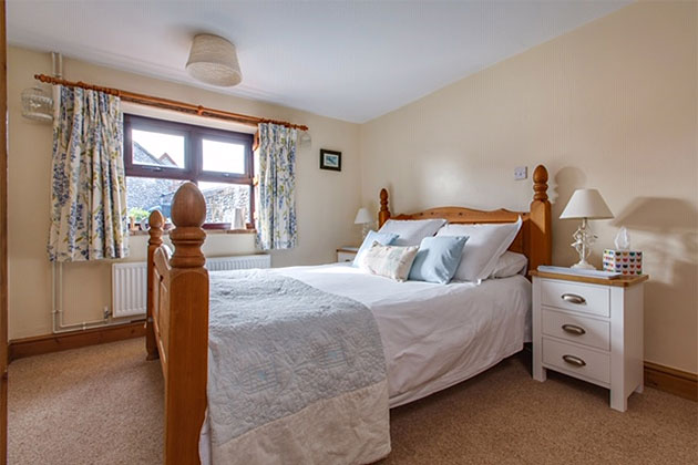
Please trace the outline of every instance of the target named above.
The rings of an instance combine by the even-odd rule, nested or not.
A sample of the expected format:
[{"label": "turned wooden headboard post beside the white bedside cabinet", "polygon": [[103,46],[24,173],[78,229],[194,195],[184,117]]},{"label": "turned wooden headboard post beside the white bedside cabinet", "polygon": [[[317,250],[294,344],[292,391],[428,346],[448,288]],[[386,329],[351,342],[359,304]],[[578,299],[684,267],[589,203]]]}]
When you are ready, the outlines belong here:
[{"label": "turned wooden headboard post beside the white bedside cabinet", "polygon": [[533,202],[528,221],[530,239],[526,244],[528,269],[535,270],[538,265],[551,265],[553,256],[553,235],[551,203],[547,199],[547,169],[538,165],[533,172]]}]

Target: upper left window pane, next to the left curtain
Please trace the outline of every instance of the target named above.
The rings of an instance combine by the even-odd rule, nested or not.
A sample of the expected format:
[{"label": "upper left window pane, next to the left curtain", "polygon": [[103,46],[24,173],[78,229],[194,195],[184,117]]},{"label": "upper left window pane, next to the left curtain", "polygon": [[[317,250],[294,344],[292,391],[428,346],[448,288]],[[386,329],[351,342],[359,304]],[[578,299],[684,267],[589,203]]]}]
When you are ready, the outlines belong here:
[{"label": "upper left window pane, next to the left curtain", "polygon": [[184,136],[131,130],[133,164],[185,168]]}]

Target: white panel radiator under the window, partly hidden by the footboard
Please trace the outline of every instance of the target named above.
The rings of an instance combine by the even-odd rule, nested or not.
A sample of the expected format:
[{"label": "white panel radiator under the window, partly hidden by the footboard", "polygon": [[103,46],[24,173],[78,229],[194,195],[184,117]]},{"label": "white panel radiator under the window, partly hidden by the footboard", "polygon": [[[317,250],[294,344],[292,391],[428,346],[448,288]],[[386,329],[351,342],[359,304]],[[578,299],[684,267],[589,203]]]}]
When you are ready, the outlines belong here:
[{"label": "white panel radiator under the window, partly hidden by the footboard", "polygon": [[[271,267],[270,255],[245,255],[206,259],[209,271]],[[145,261],[112,265],[112,318],[145,314],[147,298]]]}]

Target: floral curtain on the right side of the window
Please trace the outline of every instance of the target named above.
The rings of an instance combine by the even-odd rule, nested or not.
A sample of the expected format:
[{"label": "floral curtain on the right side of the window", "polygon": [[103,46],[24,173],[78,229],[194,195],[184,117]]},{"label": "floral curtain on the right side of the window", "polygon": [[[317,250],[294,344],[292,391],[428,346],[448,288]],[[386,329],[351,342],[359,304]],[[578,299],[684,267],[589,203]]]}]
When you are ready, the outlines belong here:
[{"label": "floral curtain on the right side of the window", "polygon": [[257,246],[263,250],[296,247],[297,131],[277,124],[259,125],[259,202]]}]

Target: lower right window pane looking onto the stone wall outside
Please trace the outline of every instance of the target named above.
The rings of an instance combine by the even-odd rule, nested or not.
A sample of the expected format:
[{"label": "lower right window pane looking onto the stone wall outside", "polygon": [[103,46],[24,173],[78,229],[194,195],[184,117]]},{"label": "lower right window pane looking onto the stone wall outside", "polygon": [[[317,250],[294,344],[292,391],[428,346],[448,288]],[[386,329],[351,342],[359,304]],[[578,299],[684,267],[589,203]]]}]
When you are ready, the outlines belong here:
[{"label": "lower right window pane looking onto the stone wall outside", "polygon": [[245,221],[249,218],[249,190],[245,184],[198,183],[206,199],[206,223],[233,223],[235,208],[242,208]]}]

